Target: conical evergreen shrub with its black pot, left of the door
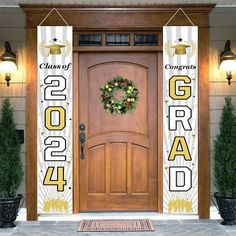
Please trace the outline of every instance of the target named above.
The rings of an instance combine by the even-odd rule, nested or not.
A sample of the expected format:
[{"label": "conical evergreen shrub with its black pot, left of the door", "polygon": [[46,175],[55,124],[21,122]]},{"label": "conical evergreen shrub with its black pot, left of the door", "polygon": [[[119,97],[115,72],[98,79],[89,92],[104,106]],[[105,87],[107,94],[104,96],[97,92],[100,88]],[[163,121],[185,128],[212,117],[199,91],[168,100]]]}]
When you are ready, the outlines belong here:
[{"label": "conical evergreen shrub with its black pot, left of the door", "polygon": [[[9,98],[2,104],[0,118],[0,227],[15,227],[24,200],[17,189],[23,177],[23,167],[20,158],[21,144],[13,117],[13,109]],[[23,204],[23,201],[22,201]]]}]

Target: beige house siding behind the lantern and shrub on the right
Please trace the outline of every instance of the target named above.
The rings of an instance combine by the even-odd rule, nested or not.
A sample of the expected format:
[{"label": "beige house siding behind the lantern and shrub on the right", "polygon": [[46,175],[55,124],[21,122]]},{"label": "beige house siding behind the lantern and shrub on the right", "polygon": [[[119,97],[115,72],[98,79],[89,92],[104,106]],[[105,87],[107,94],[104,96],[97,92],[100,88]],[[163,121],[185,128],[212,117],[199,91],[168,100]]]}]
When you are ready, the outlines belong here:
[{"label": "beige house siding behind the lantern and shrub on the right", "polygon": [[[224,50],[226,40],[231,40],[231,49],[236,52],[236,7],[217,7],[210,13],[210,151],[211,151],[211,193],[216,191],[213,183],[214,139],[219,133],[219,120],[224,106],[224,98],[232,97],[236,108],[236,73],[233,74],[231,85],[227,84],[225,73],[218,68],[219,51]],[[236,68],[235,68],[236,69]]]}]

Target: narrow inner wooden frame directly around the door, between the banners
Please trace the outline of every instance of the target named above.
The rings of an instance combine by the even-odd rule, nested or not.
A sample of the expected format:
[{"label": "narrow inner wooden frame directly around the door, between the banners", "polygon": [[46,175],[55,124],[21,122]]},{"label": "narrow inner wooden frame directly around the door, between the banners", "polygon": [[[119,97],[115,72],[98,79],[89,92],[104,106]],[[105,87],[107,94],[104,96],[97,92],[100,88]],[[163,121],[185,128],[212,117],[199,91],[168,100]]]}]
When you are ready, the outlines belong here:
[{"label": "narrow inner wooden frame directly around the door, between the banners", "polygon": [[[94,49],[95,50],[95,49]],[[107,53],[107,52],[120,52],[118,50],[114,50],[113,47],[110,47],[108,50],[104,47],[104,50],[98,49],[101,53]],[[96,50],[95,50],[96,51]],[[88,53],[91,53],[91,51],[87,51]],[[158,63],[157,65],[157,71],[156,71],[156,78],[157,78],[157,212],[162,213],[163,212],[163,73],[162,73],[162,48],[157,48],[154,50],[148,50],[144,51],[145,53],[154,53],[156,56],[156,61]],[[86,51],[83,51],[82,53],[86,53]],[[140,49],[132,49],[130,50],[128,47],[126,50],[123,51],[123,53],[140,53]],[[74,50],[74,76],[73,76],[73,94],[74,94],[74,103],[73,103],[73,109],[74,109],[74,115],[73,115],[73,136],[74,136],[74,144],[79,143],[79,55],[81,54],[80,50],[75,51]],[[73,145],[74,147],[74,173],[73,173],[73,199],[76,199],[73,202],[74,206],[74,213],[80,212],[80,204],[79,204],[79,194],[80,194],[80,158],[79,158],[79,145]],[[76,190],[76,191],[75,191]]]}]

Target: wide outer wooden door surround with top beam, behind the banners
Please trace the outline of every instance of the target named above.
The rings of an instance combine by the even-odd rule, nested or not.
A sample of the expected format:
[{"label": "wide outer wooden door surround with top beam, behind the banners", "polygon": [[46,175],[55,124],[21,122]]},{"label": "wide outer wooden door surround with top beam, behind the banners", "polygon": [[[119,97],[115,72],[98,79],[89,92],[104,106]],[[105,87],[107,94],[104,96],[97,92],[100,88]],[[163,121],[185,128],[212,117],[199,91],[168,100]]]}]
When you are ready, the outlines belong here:
[{"label": "wide outer wooden door surround with top beam, behind the banners", "polygon": [[[137,6],[68,6],[68,5],[32,5],[23,4],[20,7],[26,13],[26,53],[27,53],[27,111],[26,111],[26,197],[27,219],[37,220],[37,25],[47,13],[56,7],[74,31],[121,30],[121,31],[162,31],[162,26],[170,19],[178,8],[183,8],[192,21],[199,26],[199,168],[198,168],[198,212],[200,219],[209,218],[210,209],[210,143],[209,143],[209,12],[214,4],[187,4],[187,5],[137,5]],[[139,17],[137,17],[139,14]],[[81,15],[83,17],[81,17]],[[45,25],[59,25],[62,20],[52,14],[45,21]],[[172,20],[171,25],[189,25],[183,15]],[[76,35],[75,35],[76,37]],[[76,38],[75,38],[76,39]],[[77,40],[74,40],[76,42]],[[74,45],[74,63],[76,54],[81,49]],[[98,49],[98,51],[101,50]],[[124,51],[124,48],[114,48]],[[128,49],[127,49],[128,50]],[[129,49],[129,50],[132,50]],[[162,46],[141,49],[162,50]],[[77,57],[78,58],[78,57]],[[74,66],[75,67],[75,66]],[[161,73],[161,72],[160,72]],[[162,74],[162,73],[161,73]],[[76,76],[76,71],[75,71]],[[74,88],[76,80],[74,80]],[[75,91],[76,92],[76,91]],[[75,95],[76,96],[76,95]],[[76,97],[75,97],[76,98]],[[162,106],[161,106],[162,107]],[[78,114],[74,110],[74,116]],[[77,112],[77,113],[76,113]],[[161,111],[160,111],[161,112]],[[160,124],[162,128],[162,124]],[[78,123],[74,124],[78,129]],[[162,136],[159,137],[162,140]],[[74,142],[78,142],[74,136]],[[74,145],[76,146],[76,145]],[[160,150],[160,149],[159,149]],[[74,163],[78,161],[78,150],[74,149]],[[158,153],[162,155],[162,153]],[[161,163],[158,163],[159,166]],[[76,179],[74,180],[76,181]],[[74,186],[74,191],[76,191]],[[78,192],[78,191],[77,191]],[[74,195],[74,197],[76,197]],[[74,213],[79,212],[74,201]],[[162,209],[162,203],[158,205]]]}]

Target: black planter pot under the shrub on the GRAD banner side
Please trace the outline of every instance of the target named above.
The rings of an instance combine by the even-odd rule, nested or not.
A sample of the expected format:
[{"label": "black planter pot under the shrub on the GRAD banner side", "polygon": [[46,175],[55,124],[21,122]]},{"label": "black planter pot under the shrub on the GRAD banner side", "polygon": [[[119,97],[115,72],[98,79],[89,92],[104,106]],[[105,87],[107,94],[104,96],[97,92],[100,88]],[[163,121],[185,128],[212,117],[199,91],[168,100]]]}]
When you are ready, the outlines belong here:
[{"label": "black planter pot under the shrub on the GRAD banner side", "polygon": [[[216,203],[212,198],[213,203],[218,209],[220,216],[224,219],[222,225],[236,224],[236,198],[235,197],[221,197],[219,193],[214,193]],[[218,207],[217,207],[218,206]]]}]

